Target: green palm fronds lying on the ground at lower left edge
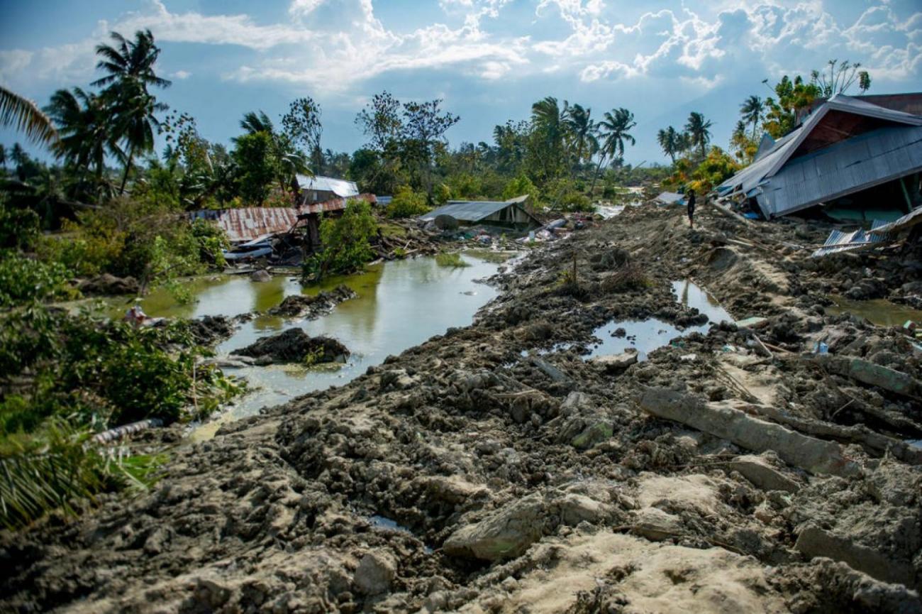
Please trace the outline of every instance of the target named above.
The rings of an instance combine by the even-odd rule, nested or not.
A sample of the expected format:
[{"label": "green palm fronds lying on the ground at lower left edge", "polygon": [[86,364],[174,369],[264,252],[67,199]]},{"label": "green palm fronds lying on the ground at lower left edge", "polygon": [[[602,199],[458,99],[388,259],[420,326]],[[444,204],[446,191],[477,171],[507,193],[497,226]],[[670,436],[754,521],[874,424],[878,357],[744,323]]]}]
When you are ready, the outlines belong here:
[{"label": "green palm fronds lying on the ground at lower left edge", "polygon": [[79,500],[99,492],[154,483],[161,457],[103,451],[90,436],[55,418],[34,433],[0,437],[0,524],[18,528],[54,509],[75,514]]}]

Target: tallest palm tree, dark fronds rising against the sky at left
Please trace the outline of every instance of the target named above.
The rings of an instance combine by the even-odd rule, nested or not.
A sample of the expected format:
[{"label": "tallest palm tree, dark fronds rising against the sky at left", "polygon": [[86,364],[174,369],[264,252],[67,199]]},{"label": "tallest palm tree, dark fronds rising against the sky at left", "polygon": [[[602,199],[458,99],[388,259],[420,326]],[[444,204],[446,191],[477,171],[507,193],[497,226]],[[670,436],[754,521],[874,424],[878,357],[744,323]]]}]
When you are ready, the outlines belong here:
[{"label": "tallest palm tree, dark fronds rising against the sky at left", "polygon": [[135,155],[153,150],[154,128],[160,126],[154,114],[168,108],[148,92],[148,85],[168,88],[171,81],[154,73],[160,48],[154,44],[150,30],[137,30],[134,41],[112,32],[112,40],[114,46],[100,44],[96,47],[96,54],[101,57],[96,67],[107,74],[93,81],[92,85],[106,86],[102,95],[112,105],[115,135],[127,149],[119,188],[124,193]]}]

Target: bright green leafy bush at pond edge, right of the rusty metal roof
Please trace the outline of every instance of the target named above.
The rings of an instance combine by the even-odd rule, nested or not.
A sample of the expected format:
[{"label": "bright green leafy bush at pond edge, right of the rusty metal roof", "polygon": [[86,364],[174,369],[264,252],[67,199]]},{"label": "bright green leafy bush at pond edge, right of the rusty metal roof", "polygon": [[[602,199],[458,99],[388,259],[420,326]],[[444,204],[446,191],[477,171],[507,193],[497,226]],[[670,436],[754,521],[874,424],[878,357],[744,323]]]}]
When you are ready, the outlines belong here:
[{"label": "bright green leafy bush at pond edge, right of the rusty metal roof", "polygon": [[340,217],[321,220],[323,251],[305,261],[303,277],[320,279],[328,274],[361,269],[374,256],[370,242],[377,231],[371,205],[364,200],[349,200]]}]

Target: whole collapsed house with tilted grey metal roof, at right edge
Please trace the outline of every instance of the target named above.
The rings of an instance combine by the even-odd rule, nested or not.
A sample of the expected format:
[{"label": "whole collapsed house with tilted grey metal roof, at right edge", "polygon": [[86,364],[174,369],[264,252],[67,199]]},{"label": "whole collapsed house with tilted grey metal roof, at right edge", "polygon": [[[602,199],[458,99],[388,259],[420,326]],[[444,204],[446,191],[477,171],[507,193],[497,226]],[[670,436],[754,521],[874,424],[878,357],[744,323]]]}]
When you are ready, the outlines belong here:
[{"label": "whole collapsed house with tilted grey metal roof, at right edge", "polygon": [[[916,95],[917,96],[917,95]],[[838,94],[715,188],[766,219],[822,206],[853,221],[892,221],[919,201],[922,115]]]}]

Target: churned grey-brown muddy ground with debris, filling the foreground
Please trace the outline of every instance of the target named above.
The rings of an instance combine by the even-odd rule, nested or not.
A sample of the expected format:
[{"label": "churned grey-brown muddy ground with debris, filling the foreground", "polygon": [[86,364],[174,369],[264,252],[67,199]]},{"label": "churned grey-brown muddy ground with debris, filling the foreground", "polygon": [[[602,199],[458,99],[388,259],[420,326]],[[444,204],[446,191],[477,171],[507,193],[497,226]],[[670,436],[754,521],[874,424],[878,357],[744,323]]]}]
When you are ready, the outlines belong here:
[{"label": "churned grey-brown muddy ground with debris, filling the foreground", "polygon": [[[917,254],[818,262],[828,229],[682,212],[541,247],[474,325],[178,445],[148,494],[3,534],[0,608],[918,612],[918,354],[823,309],[913,300]],[[768,320],[585,360],[612,320],[700,324],[684,279]]]}]

